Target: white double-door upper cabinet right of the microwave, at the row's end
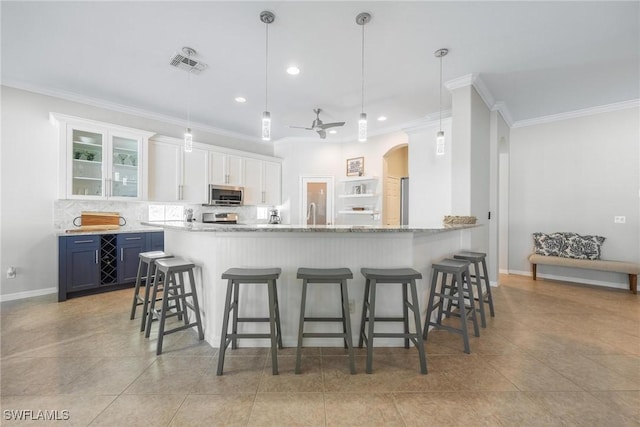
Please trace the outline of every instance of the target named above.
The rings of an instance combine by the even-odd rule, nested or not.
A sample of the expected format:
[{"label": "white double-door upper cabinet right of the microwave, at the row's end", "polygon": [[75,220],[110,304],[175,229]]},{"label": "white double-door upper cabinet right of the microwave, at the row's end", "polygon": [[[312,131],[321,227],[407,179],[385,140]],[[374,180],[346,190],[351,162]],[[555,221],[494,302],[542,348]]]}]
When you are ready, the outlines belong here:
[{"label": "white double-door upper cabinet right of the microwave, at the row's end", "polygon": [[243,185],[245,205],[279,205],[282,165],[278,162],[245,158]]}]

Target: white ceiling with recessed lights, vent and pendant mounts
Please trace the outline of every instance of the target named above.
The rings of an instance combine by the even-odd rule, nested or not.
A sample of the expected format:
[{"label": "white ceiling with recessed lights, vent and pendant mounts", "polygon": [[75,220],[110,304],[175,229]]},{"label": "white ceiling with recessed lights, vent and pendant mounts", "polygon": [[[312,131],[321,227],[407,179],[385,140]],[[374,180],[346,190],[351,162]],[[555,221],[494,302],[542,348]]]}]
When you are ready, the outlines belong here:
[{"label": "white ceiling with recessed lights, vent and pendant mounts", "polygon": [[[513,121],[640,98],[640,2],[8,2],[2,1],[2,82],[126,105],[257,140],[264,110],[265,24],[273,138],[351,139],[360,113],[361,27],[370,132],[437,117],[444,80],[478,73]],[[168,65],[183,46],[209,68],[198,76]],[[301,68],[289,76],[290,64]],[[189,91],[189,92],[188,92]],[[190,96],[188,96],[190,94]],[[247,98],[238,104],[234,97]],[[443,107],[451,108],[448,92]],[[386,122],[375,120],[386,115]]]}]

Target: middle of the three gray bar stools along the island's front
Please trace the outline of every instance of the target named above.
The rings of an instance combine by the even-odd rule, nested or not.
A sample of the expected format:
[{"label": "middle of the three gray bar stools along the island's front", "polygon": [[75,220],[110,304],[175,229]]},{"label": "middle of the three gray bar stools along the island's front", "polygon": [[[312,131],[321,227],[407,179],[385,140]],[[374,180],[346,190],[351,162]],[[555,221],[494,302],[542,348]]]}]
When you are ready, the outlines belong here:
[{"label": "middle of the three gray bar stools along the island's front", "polygon": [[[342,338],[344,348],[349,352],[349,367],[351,373],[356,373],[355,358],[353,355],[353,340],[351,337],[351,316],[349,314],[349,293],[347,291],[347,279],[353,279],[353,273],[348,268],[299,268],[298,279],[302,279],[302,302],[300,304],[300,324],[298,326],[298,348],[296,350],[296,370],[300,373],[302,339],[308,338]],[[306,317],[307,285],[319,283],[333,283],[340,285],[340,300],[342,317]],[[304,322],[340,322],[342,332],[304,332]]]}]

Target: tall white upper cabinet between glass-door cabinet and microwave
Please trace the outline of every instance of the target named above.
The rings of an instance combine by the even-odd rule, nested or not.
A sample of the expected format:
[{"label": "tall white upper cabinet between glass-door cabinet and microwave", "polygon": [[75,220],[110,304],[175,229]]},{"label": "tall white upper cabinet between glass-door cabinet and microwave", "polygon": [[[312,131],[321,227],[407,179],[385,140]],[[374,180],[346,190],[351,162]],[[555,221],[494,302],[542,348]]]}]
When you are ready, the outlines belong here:
[{"label": "tall white upper cabinet between glass-door cabinet and microwave", "polygon": [[149,143],[149,200],[207,202],[208,154],[195,147],[185,153],[182,142],[157,138]]}]

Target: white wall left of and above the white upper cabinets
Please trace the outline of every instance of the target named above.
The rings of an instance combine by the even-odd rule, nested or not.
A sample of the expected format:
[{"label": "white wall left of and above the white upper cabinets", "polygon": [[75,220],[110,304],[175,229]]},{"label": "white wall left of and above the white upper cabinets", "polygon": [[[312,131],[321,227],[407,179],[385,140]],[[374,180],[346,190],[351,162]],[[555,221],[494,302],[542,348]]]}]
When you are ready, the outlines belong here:
[{"label": "white wall left of and above the white upper cabinets", "polygon": [[[58,130],[49,112],[114,123],[180,138],[184,128],[2,87],[0,295],[29,296],[57,289],[57,239],[53,205],[57,199]],[[270,144],[258,144],[194,130],[199,142],[273,155]],[[9,266],[17,277],[6,279]]]}]

